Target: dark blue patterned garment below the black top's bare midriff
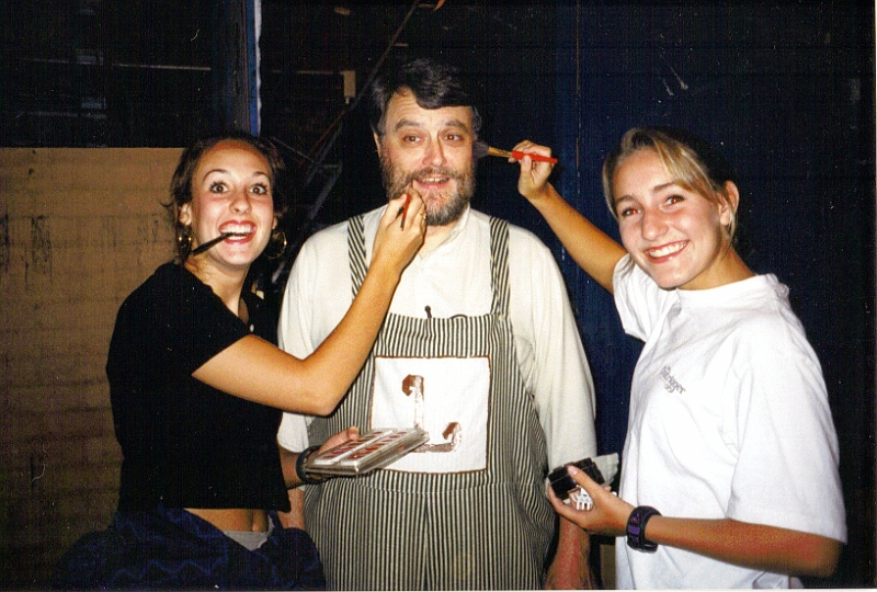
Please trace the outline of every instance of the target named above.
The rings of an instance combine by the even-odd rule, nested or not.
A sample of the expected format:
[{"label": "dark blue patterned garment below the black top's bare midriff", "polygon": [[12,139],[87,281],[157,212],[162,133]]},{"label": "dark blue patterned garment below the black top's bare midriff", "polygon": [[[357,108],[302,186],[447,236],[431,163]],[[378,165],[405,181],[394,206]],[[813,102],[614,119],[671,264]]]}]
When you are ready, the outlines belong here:
[{"label": "dark blue patterned garment below the black top's bare midriff", "polygon": [[116,512],[77,540],[52,579],[62,590],[321,590],[322,565],[304,531],[275,528],[251,551],[180,509]]}]

